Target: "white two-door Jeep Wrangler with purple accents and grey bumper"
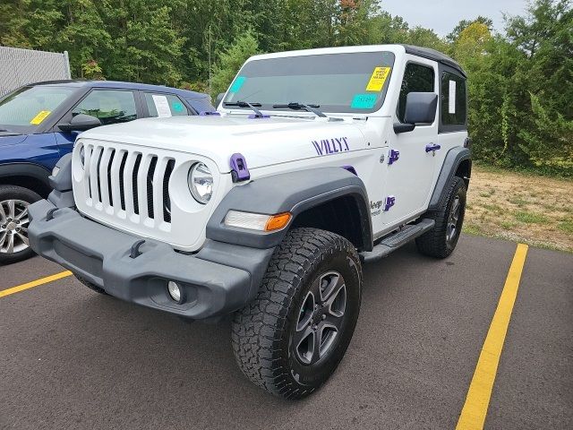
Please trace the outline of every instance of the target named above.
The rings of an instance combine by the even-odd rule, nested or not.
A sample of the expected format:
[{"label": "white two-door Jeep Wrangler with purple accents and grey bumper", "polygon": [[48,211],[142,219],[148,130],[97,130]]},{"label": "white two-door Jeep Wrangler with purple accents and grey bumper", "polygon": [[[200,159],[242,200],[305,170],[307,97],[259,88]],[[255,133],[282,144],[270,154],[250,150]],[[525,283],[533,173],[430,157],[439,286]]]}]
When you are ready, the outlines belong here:
[{"label": "white two-door Jeep Wrangler with purple accents and grey bumper", "polygon": [[466,74],[382,45],[253,56],[217,112],[82,133],[30,206],[30,245],[100,293],[233,314],[253,383],[321,386],[355,330],[361,264],[447,257],[471,171]]}]

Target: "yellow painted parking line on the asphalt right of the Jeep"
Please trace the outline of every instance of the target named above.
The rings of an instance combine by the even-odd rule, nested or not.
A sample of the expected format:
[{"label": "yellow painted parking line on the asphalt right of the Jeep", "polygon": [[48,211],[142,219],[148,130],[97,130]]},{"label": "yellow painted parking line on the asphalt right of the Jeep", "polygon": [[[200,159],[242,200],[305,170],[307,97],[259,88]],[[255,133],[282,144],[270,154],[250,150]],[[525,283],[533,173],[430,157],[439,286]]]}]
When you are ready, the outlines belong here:
[{"label": "yellow painted parking line on the asphalt right of the Jeep", "polygon": [[508,331],[509,318],[517,297],[521,272],[526,262],[527,245],[518,244],[509,267],[508,278],[501,291],[500,302],[493,314],[490,330],[483,342],[482,353],[475,366],[474,377],[467,391],[466,403],[459,416],[456,430],[483,429],[492,396],[495,374],[500,363],[501,349]]}]

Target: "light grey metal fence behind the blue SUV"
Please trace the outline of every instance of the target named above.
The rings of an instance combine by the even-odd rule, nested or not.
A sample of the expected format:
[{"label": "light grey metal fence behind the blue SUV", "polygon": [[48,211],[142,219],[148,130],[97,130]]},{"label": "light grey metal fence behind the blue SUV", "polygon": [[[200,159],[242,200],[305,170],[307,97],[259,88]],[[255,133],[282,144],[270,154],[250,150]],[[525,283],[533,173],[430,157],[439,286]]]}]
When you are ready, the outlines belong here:
[{"label": "light grey metal fence behind the blue SUV", "polygon": [[68,52],[0,47],[0,97],[21,85],[70,79]]}]

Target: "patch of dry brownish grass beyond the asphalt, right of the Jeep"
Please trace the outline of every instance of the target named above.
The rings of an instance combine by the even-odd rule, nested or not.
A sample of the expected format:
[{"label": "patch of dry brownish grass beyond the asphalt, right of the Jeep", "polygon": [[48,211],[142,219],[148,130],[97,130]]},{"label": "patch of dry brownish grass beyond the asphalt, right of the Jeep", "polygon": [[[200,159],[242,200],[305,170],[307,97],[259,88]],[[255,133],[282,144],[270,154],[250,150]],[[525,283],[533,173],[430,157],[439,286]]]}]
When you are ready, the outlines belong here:
[{"label": "patch of dry brownish grass beyond the asphalt, right of the Jeep", "polygon": [[573,252],[573,179],[474,166],[464,232]]}]

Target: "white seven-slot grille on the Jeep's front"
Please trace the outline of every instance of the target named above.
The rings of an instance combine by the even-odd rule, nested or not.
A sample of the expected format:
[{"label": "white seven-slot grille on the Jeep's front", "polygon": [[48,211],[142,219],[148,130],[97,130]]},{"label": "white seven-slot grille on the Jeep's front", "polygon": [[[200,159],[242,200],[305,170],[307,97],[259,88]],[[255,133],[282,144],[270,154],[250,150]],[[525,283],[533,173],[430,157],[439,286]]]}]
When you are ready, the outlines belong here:
[{"label": "white seven-slot grille on the Jeep's front", "polygon": [[149,227],[171,223],[169,177],[175,159],[141,150],[84,144],[86,203]]}]

